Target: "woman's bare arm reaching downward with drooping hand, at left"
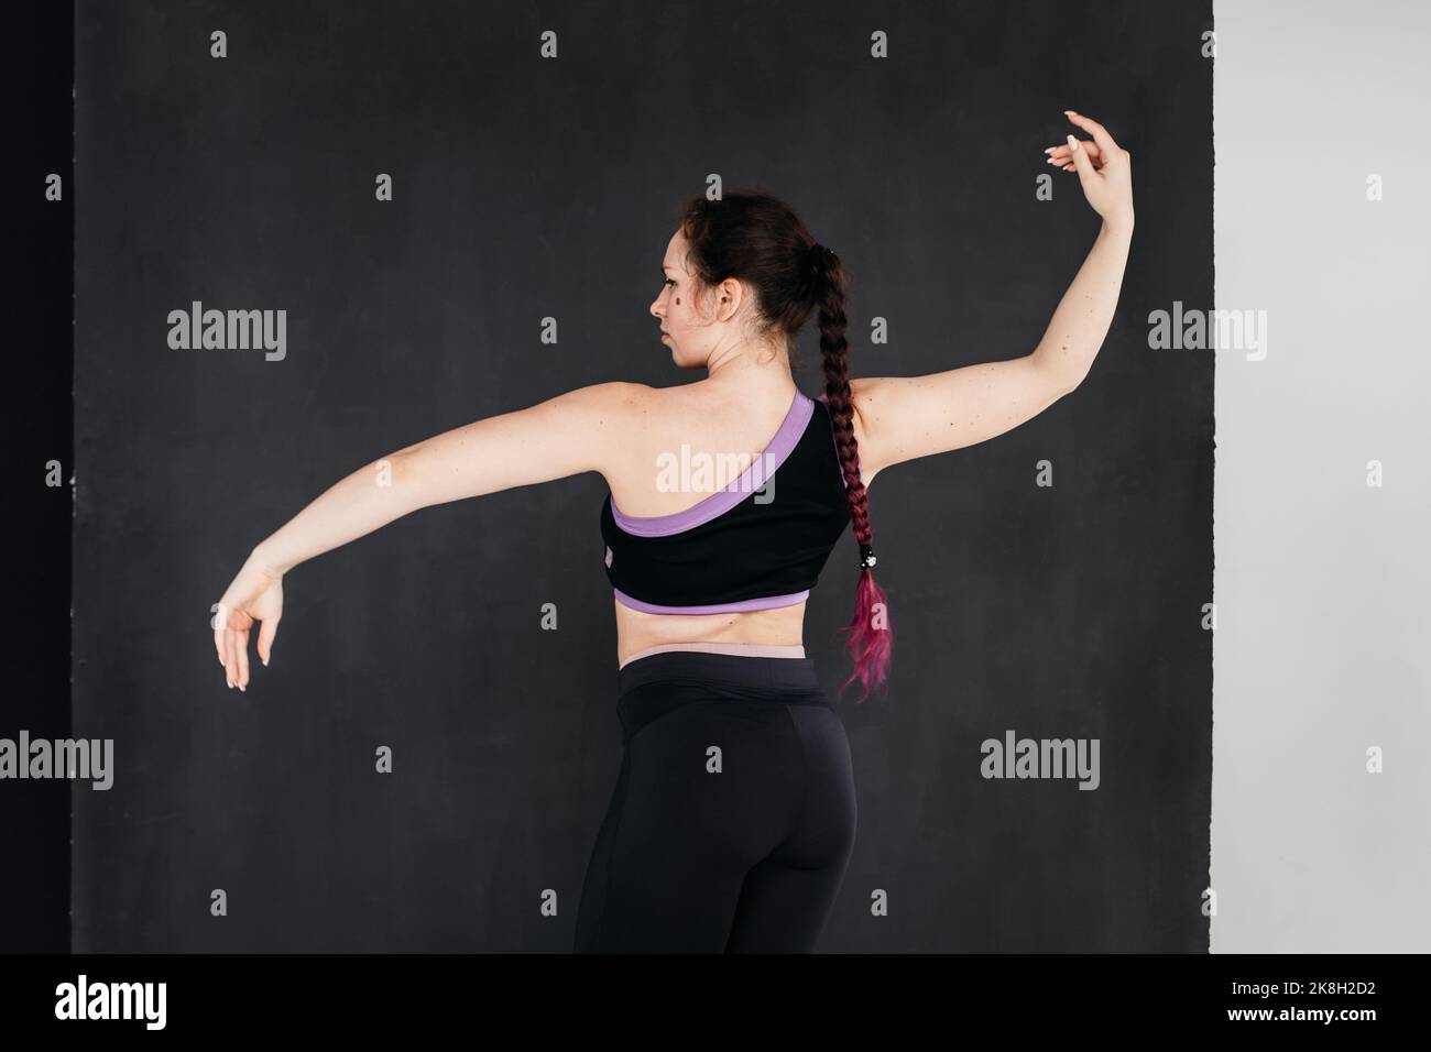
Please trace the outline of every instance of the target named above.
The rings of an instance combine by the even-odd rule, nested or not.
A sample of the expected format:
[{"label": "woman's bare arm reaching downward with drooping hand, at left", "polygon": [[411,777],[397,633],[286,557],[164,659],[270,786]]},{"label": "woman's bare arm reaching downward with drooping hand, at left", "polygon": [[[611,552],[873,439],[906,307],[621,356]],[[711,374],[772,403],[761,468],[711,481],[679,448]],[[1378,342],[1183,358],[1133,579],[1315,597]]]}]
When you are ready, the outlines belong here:
[{"label": "woman's bare arm reaching downward with drooping hand, at left", "polygon": [[268,664],[283,610],[283,575],[299,562],[419,508],[604,471],[622,442],[622,411],[641,385],[595,384],[479,419],[398,449],[336,482],[253,548],[215,607],[213,641],[230,687],[249,681],[249,630]]}]

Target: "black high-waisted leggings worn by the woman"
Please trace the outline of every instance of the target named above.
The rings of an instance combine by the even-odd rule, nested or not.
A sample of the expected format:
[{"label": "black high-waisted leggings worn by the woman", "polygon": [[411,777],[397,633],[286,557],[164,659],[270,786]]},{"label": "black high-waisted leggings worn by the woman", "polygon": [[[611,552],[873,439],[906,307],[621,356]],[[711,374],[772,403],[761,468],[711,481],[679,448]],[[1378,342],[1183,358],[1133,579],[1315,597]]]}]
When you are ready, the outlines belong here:
[{"label": "black high-waisted leggings worn by the woman", "polygon": [[814,661],[661,651],[622,667],[618,693],[621,773],[575,952],[813,950],[856,826]]}]

